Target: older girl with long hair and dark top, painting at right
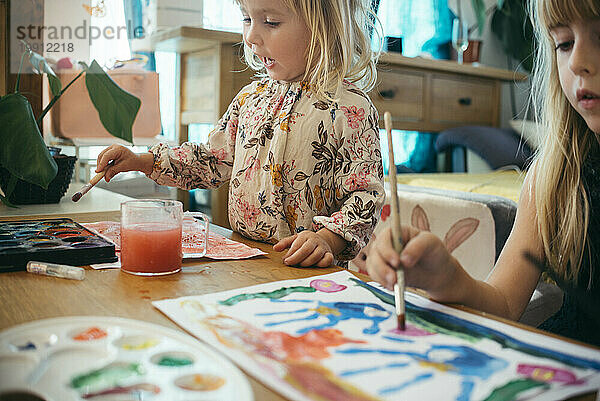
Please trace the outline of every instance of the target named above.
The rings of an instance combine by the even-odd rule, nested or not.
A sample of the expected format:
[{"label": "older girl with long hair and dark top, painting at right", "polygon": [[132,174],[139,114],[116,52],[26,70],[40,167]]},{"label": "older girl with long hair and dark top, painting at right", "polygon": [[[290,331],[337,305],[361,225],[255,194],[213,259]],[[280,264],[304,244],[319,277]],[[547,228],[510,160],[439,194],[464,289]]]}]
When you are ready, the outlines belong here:
[{"label": "older girl with long hair and dark top, painting at right", "polygon": [[403,227],[401,254],[390,231],[379,235],[367,269],[392,288],[403,266],[406,284],[437,301],[517,320],[541,274],[530,254],[565,290],[562,309],[542,328],[600,345],[600,0],[532,0],[531,16],[533,103],[544,140],[494,270],[475,280],[439,238],[414,227]]}]

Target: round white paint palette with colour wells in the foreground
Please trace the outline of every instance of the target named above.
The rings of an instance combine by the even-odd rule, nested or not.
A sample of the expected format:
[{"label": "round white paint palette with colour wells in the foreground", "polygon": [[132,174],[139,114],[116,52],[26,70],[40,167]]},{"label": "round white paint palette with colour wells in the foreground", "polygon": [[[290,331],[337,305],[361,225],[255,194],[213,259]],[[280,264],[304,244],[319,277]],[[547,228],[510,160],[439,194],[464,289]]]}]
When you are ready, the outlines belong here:
[{"label": "round white paint palette with colour wells in the foreground", "polygon": [[0,372],[0,399],[253,400],[240,370],[198,340],[116,317],[45,319],[5,330]]}]

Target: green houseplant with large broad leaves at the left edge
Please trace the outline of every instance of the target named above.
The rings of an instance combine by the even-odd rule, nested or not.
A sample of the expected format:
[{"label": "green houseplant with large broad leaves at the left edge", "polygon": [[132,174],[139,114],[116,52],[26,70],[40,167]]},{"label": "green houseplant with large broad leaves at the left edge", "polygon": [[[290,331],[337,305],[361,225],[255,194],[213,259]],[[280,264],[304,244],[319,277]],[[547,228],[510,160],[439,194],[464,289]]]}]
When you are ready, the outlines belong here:
[{"label": "green houseplant with large broad leaves at the left edge", "polygon": [[[19,92],[25,59],[29,60],[36,72],[47,75],[52,93],[52,99],[37,120],[29,101]],[[81,72],[63,88],[60,79],[42,56],[28,46],[23,53],[14,93],[0,97],[0,168],[8,177],[2,185],[4,195],[0,194],[3,203],[14,206],[9,198],[19,182],[47,189],[56,177],[58,167],[44,143],[40,127],[52,106],[81,77],[85,77],[86,89],[102,125],[111,135],[132,141],[132,127],[141,106],[140,100],[119,88],[95,60],[89,66],[85,63],[80,65]]]}]

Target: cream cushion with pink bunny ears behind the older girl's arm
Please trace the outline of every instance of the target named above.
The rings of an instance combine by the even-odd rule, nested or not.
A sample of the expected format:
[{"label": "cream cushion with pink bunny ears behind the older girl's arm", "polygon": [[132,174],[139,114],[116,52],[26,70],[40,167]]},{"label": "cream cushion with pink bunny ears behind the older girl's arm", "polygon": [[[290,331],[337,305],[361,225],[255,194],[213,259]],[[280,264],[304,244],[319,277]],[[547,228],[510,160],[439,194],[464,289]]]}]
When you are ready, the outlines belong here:
[{"label": "cream cushion with pink bunny ears behind the older girl's arm", "polygon": [[[471,276],[480,280],[488,276],[496,260],[496,231],[494,217],[484,203],[426,191],[399,190],[398,198],[401,221],[441,238]],[[391,224],[390,210],[388,202],[371,241],[350,262],[351,270],[366,274],[366,255],[376,236]]]}]

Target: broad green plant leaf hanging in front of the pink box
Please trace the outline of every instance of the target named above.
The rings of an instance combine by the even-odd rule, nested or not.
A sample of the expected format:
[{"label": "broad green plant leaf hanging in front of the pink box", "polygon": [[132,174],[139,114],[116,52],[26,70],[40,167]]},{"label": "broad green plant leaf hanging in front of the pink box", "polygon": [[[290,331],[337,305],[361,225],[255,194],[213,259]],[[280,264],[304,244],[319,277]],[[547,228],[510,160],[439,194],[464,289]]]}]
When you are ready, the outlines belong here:
[{"label": "broad green plant leaf hanging in front of the pink box", "polygon": [[94,60],[85,74],[85,86],[100,121],[111,135],[132,142],[132,128],[141,101],[125,92]]}]

